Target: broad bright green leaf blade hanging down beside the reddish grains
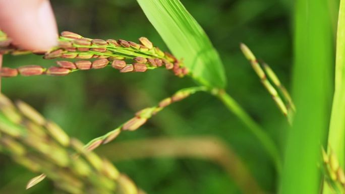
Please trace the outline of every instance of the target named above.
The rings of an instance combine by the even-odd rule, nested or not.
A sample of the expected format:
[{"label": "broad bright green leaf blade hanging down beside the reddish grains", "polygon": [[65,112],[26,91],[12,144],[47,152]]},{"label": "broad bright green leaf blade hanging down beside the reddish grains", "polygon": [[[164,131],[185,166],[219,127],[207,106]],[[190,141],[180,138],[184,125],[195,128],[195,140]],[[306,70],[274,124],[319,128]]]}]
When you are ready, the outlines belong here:
[{"label": "broad bright green leaf blade hanging down beside the reddish grains", "polygon": [[200,84],[224,88],[225,73],[206,33],[179,0],[137,0],[172,53]]}]

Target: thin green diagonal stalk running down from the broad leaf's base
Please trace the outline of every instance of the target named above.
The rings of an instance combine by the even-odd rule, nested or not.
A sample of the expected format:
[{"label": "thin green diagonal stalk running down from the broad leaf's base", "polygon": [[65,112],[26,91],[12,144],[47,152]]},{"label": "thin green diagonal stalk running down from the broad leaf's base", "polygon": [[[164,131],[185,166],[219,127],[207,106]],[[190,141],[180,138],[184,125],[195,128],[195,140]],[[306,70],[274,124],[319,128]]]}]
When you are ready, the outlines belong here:
[{"label": "thin green diagonal stalk running down from the broad leaf's base", "polygon": [[272,158],[278,173],[281,171],[279,152],[273,140],[265,131],[248,115],[248,113],[226,92],[220,90],[215,95],[232,111],[247,127],[248,130],[260,141],[267,154]]}]

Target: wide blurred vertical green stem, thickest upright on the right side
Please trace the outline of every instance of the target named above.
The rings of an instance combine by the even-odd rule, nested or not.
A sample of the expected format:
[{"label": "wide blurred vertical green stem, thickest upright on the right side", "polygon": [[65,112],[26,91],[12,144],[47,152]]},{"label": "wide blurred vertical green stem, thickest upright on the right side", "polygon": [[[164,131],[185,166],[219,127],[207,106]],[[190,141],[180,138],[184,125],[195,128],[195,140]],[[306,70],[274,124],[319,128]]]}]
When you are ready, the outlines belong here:
[{"label": "wide blurred vertical green stem, thickest upright on the right side", "polygon": [[298,108],[287,137],[280,193],[319,193],[333,63],[327,1],[297,0],[294,27],[293,99]]}]

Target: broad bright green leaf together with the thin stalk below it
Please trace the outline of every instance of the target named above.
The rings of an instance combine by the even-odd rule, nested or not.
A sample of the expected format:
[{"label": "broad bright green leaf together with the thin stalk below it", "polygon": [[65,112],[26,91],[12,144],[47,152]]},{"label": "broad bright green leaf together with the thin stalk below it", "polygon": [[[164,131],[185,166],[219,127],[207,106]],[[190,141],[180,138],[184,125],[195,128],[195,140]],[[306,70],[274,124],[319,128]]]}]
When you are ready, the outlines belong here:
[{"label": "broad bright green leaf together with the thin stalk below it", "polygon": [[[225,72],[218,52],[204,30],[179,0],[137,0],[146,17],[176,57],[184,58],[192,78],[211,88],[225,107],[233,112],[262,144],[276,170],[281,169],[281,159],[273,140],[251,116],[229,96]],[[174,30],[171,30],[174,29]]]}]

